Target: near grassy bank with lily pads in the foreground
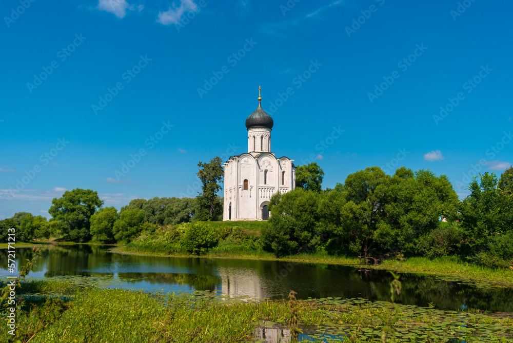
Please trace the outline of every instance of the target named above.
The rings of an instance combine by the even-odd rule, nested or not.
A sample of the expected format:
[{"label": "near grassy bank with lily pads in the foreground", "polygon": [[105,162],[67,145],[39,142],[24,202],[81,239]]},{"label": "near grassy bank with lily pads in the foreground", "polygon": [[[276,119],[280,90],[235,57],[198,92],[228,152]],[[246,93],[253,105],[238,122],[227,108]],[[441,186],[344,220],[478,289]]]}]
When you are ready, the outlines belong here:
[{"label": "near grassy bank with lily pads in the foreground", "polygon": [[[58,290],[47,281],[25,289]],[[291,312],[291,308],[294,309]],[[6,312],[1,317],[5,320]],[[209,293],[147,294],[87,288],[63,300],[42,299],[17,313],[17,333],[31,342],[242,342],[258,332],[283,330],[291,316],[298,328],[324,341],[506,342],[513,338],[510,315],[443,312],[363,299],[223,301]],[[337,338],[328,340],[323,334]],[[2,330],[2,340],[7,332]],[[343,336],[349,339],[343,340]],[[394,338],[395,336],[395,338]]]}]

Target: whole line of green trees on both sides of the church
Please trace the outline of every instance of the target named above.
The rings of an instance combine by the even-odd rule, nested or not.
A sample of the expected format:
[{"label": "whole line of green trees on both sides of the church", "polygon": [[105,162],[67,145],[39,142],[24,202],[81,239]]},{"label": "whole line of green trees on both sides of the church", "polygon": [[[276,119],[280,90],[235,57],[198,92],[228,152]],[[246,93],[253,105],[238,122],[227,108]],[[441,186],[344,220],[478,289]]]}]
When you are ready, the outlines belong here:
[{"label": "whole line of green trees on both sides of the church", "polygon": [[[223,199],[216,195],[221,162],[216,157],[198,164],[202,192],[195,198],[134,199],[118,212],[103,207],[95,191],[66,191],[52,200],[49,221],[26,212],[0,221],[0,242],[7,241],[7,228],[16,227],[21,241],[59,233],[74,241],[126,244],[162,226],[222,220]],[[271,197],[271,216],[260,237],[264,249],[276,256],[458,255],[480,265],[512,266],[512,167],[500,178],[495,173],[474,178],[463,200],[446,175],[429,170],[402,167],[388,175],[370,167],[324,190],[317,163],[298,166],[296,175],[295,190]]]}]

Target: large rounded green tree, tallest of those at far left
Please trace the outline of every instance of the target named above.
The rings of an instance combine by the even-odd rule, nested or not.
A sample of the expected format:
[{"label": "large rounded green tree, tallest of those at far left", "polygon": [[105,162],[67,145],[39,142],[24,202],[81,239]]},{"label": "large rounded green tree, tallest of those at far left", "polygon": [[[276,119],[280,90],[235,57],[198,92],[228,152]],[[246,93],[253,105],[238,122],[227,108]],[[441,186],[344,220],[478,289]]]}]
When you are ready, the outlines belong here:
[{"label": "large rounded green tree, tallest of those at far left", "polygon": [[91,237],[89,219],[102,205],[97,192],[76,188],[64,192],[60,198],[53,198],[48,213],[63,224],[64,234],[83,242]]}]

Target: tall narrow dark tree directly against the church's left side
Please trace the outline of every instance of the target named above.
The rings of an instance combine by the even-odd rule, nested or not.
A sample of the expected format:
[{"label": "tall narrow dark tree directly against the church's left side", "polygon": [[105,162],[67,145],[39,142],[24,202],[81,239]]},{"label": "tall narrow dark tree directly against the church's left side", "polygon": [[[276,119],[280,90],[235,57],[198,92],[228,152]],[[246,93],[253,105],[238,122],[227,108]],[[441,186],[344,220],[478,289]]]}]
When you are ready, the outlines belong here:
[{"label": "tall narrow dark tree directly against the church's left side", "polygon": [[[221,157],[214,157],[209,163],[198,163],[200,170],[198,171],[198,177],[202,183],[202,191],[199,195],[200,204],[206,204],[209,207],[210,217],[214,215],[214,207],[218,196],[215,194],[221,190],[219,184],[224,177],[224,170],[221,166]],[[219,200],[218,200],[219,201]]]}]

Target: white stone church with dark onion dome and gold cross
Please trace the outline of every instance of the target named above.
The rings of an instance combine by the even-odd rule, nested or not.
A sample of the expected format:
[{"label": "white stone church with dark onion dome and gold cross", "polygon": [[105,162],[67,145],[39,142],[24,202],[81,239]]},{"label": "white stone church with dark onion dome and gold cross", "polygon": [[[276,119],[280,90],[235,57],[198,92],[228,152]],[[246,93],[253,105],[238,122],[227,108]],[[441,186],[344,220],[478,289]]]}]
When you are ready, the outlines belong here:
[{"label": "white stone church with dark onion dome and gold cross", "polygon": [[[260,93],[260,91],[259,91]],[[267,220],[267,204],[276,192],[295,188],[293,159],[271,152],[273,120],[260,105],[246,118],[248,152],[224,164],[223,220]]]}]

